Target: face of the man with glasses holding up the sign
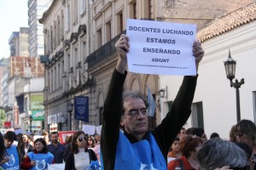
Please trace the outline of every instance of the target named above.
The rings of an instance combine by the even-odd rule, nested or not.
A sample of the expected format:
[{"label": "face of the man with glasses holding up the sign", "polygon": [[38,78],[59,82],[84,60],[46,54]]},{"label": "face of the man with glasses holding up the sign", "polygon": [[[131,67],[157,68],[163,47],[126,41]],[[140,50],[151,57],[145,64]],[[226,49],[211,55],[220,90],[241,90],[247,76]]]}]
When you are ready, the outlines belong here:
[{"label": "face of the man with glasses holding up the sign", "polygon": [[[148,130],[148,114],[143,114],[146,106],[143,99],[127,97],[124,100],[125,115],[122,116],[121,125],[125,131],[134,135],[141,136]],[[137,115],[131,115],[131,111],[138,111]]]}]

